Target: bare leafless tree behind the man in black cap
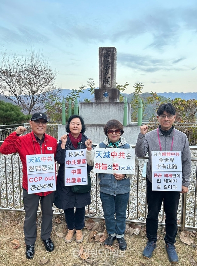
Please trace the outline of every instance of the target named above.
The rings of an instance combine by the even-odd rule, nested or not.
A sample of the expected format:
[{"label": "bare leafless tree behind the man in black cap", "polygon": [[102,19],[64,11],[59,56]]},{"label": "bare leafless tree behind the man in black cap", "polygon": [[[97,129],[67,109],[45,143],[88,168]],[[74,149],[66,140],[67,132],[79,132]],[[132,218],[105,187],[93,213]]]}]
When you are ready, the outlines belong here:
[{"label": "bare leafless tree behind the man in black cap", "polygon": [[40,111],[55,95],[57,72],[35,49],[30,55],[2,52],[0,58],[0,93],[22,108],[24,113]]}]

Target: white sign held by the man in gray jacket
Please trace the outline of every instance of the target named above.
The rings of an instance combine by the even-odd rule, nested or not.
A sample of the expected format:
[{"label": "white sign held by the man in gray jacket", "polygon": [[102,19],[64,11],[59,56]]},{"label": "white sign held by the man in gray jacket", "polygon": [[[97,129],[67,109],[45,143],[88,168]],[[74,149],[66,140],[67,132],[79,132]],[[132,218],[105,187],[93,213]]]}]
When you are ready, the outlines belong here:
[{"label": "white sign held by the man in gray jacket", "polygon": [[152,151],[152,190],[181,191],[181,151]]}]

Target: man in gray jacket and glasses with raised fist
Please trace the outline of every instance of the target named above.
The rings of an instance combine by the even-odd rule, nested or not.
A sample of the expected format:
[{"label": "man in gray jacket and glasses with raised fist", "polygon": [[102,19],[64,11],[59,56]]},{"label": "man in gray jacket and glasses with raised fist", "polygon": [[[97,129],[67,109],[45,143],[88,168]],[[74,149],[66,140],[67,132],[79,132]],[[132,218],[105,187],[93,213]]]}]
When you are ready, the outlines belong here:
[{"label": "man in gray jacket and glasses with raised fist", "polygon": [[[165,211],[165,248],[169,261],[176,264],[179,261],[175,251],[174,243],[177,235],[177,210],[179,206],[180,193],[188,192],[189,177],[191,174],[191,153],[189,142],[185,133],[176,130],[172,125],[175,122],[176,109],[171,103],[162,103],[157,110],[157,119],[159,121],[158,129],[147,133],[148,126],[140,126],[135,146],[135,154],[137,157],[144,157],[149,154],[147,163],[147,203],[148,214],[146,218],[146,236],[148,238],[147,245],[143,251],[143,258],[150,259],[152,252],[156,248],[158,215],[161,210],[162,201]],[[151,152],[155,150],[175,150],[181,151],[182,163],[182,191],[158,191],[152,190],[152,157]]]}]

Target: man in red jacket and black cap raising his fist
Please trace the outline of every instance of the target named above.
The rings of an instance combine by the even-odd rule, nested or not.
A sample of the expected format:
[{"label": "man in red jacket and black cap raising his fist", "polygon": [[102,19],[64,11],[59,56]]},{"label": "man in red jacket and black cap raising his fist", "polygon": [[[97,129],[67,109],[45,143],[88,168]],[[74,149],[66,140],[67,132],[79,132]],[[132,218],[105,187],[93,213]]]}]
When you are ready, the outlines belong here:
[{"label": "man in red jacket and black cap raising his fist", "polygon": [[34,256],[34,245],[37,236],[36,217],[39,201],[42,210],[41,239],[47,251],[54,250],[51,240],[53,200],[55,191],[28,194],[28,179],[26,155],[53,153],[57,151],[57,140],[45,134],[47,126],[47,116],[44,113],[34,113],[29,121],[32,132],[20,136],[26,128],[19,126],[15,132],[11,133],[0,147],[2,154],[17,153],[20,156],[23,166],[23,203],[25,209],[24,234],[26,244],[26,257],[32,259]]}]

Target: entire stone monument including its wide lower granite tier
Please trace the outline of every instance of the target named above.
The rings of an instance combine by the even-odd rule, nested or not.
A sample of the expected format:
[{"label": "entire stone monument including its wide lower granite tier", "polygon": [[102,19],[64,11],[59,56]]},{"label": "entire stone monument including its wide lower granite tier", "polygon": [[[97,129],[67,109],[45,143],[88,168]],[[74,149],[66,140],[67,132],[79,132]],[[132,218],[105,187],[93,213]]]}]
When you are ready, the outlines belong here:
[{"label": "entire stone monument including its wide lower granite tier", "polygon": [[[124,107],[127,106],[127,126],[124,135],[128,143],[136,143],[139,126],[131,123],[130,103],[119,102],[120,91],[116,89],[116,49],[115,47],[99,47],[99,89],[95,89],[94,103],[79,103],[79,115],[84,118],[85,135],[93,143],[104,140],[104,126],[111,119],[117,119],[122,124]],[[65,125],[58,125],[58,139],[65,134]]]}]

